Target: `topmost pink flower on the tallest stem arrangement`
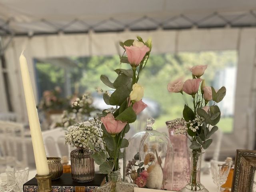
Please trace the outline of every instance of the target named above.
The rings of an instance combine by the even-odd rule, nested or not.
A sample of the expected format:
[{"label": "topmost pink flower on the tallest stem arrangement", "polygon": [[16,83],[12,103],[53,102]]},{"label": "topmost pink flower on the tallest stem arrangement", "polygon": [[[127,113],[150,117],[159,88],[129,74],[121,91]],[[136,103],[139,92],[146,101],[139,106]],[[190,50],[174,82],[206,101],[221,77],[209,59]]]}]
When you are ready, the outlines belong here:
[{"label": "topmost pink flower on the tallest stem arrangement", "polygon": [[134,41],[132,46],[124,46],[124,48],[126,49],[128,61],[132,67],[138,66],[145,54],[150,50],[146,45],[141,45],[137,41]]}]

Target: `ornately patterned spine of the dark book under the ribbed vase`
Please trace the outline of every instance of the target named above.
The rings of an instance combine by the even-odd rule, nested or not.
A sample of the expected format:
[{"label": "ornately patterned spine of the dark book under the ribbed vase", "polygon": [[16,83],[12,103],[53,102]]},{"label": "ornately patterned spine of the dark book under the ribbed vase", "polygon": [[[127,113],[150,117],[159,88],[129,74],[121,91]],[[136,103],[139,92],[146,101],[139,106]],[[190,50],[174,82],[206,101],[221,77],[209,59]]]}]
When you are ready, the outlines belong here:
[{"label": "ornately patterned spine of the dark book under the ribbed vase", "polygon": [[[52,192],[93,192],[98,186],[52,186]],[[23,186],[23,192],[37,192],[37,186]]]}]

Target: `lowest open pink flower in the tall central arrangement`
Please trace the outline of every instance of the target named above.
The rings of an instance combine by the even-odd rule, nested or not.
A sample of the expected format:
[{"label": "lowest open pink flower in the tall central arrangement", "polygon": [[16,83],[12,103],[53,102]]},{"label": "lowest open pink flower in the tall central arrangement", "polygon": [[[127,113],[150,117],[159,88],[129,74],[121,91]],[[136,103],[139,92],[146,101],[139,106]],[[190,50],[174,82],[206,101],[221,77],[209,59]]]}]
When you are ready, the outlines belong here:
[{"label": "lowest open pink flower in the tall central arrangement", "polygon": [[115,135],[120,133],[123,129],[124,126],[126,126],[126,122],[123,123],[120,120],[115,120],[113,114],[109,113],[105,117],[100,118],[102,123],[104,124],[107,132],[111,135]]}]

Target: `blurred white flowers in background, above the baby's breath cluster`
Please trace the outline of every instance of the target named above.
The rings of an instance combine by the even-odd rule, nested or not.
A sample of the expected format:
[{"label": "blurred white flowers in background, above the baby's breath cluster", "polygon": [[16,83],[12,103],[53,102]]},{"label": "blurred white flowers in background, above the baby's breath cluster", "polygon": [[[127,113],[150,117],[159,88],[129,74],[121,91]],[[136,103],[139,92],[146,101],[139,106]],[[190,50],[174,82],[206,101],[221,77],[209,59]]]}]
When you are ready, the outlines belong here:
[{"label": "blurred white flowers in background, above the baby's breath cluster", "polygon": [[70,107],[63,111],[61,122],[56,123],[56,126],[67,128],[74,124],[87,121],[93,116],[93,112],[96,114],[97,109],[93,106],[92,94],[86,92],[80,97],[74,96],[70,100]]}]

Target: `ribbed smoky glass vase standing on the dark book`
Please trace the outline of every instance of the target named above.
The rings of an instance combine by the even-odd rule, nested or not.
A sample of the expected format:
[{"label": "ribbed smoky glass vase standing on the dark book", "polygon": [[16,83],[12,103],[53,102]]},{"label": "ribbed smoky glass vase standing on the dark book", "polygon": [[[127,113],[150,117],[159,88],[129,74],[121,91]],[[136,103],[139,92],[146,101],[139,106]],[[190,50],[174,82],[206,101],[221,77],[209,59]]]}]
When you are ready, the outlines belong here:
[{"label": "ribbed smoky glass vase standing on the dark book", "polygon": [[94,159],[90,157],[88,150],[78,147],[70,152],[71,175],[76,182],[90,182],[94,179]]}]

